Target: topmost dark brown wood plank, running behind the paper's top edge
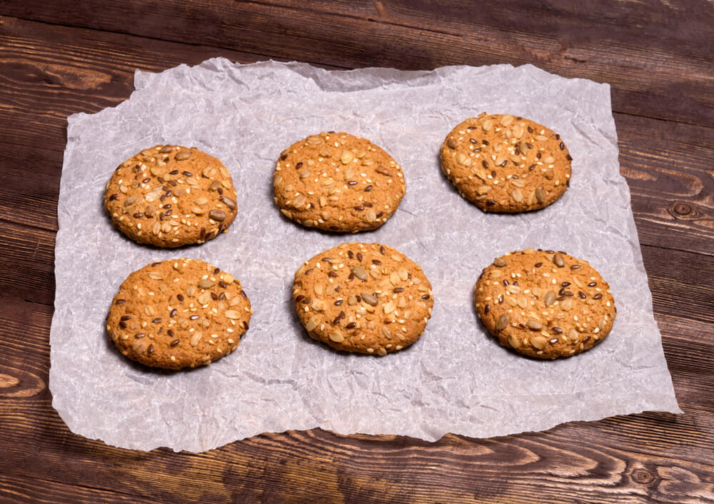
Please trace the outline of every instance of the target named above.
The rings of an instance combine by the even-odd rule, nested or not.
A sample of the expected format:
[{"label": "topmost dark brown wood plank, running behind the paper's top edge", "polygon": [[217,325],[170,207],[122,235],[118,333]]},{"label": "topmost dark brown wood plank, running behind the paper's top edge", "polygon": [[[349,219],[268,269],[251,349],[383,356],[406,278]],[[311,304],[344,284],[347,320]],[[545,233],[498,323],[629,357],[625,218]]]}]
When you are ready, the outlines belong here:
[{"label": "topmost dark brown wood plank, running behind the paper's top edge", "polygon": [[569,2],[11,0],[2,13],[343,67],[533,63],[612,83],[616,111],[714,126],[714,14],[703,2],[607,2],[584,15]]}]

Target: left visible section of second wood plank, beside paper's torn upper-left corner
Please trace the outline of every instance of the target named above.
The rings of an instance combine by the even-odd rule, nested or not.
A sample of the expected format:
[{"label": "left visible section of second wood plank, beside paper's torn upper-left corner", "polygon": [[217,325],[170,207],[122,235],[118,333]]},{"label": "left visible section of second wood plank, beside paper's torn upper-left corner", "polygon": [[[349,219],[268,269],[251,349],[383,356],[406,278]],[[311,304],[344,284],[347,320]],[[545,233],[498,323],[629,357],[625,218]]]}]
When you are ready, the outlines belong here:
[{"label": "left visible section of second wood plank, beside paper's torn upper-left corner", "polygon": [[[0,17],[0,218],[57,228],[66,118],[116,106],[134,90],[137,66],[161,71],[212,56],[246,54],[135,37],[71,30]],[[252,56],[251,56],[252,57]]]}]

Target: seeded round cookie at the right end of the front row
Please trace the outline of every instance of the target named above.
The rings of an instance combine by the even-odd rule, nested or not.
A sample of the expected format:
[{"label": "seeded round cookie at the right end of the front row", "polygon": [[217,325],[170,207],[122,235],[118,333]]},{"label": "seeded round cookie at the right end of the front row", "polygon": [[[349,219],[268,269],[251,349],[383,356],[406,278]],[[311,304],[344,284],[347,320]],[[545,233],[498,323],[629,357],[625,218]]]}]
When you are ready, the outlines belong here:
[{"label": "seeded round cookie at the right end of the front row", "polygon": [[496,258],[478,278],[474,298],[501,345],[544,359],[593,348],[617,313],[610,286],[587,261],[533,248]]}]

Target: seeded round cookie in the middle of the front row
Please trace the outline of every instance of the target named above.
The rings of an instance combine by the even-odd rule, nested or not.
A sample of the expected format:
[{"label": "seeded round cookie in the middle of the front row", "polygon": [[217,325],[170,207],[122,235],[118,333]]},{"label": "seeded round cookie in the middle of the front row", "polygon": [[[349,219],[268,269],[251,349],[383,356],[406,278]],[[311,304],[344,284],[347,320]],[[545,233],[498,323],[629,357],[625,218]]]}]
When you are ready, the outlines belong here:
[{"label": "seeded round cookie in the middle of the front row", "polygon": [[295,273],[293,303],[312,338],[386,356],[414,343],[434,304],[421,266],[379,243],[342,243]]}]

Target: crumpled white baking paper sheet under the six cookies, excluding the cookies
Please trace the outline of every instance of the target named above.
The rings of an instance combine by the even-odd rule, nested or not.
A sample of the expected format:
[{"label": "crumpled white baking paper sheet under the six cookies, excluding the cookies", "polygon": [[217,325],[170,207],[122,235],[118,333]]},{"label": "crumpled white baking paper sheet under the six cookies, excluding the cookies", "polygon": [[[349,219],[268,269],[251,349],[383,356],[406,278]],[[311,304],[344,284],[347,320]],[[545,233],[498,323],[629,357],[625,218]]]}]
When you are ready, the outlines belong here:
[{"label": "crumpled white baking paper sheet under the six cookies, excluding the cookies", "polygon": [[[307,64],[210,59],[136,73],[131,98],[69,117],[59,198],[51,327],[54,408],[74,432],[124,448],[202,451],[264,432],[444,433],[490,437],[568,420],[681,413],[620,176],[610,89],[531,65],[435,71],[326,71]],[[568,191],[535,213],[490,215],[456,193],[438,148],[483,111],[558,131],[573,158]],[[287,221],[273,203],[273,167],[319,131],[370,138],[401,163],[407,193],[377,231],[336,235]],[[238,188],[230,232],[176,251],[121,236],[102,206],[114,168],[156,143],[221,158]],[[312,341],[291,306],[298,266],[343,241],[376,241],[423,266],[433,317],[421,339],[384,358]],[[506,351],[473,311],[473,286],[493,258],[527,247],[590,261],[612,286],[615,328],[600,346],[559,361]],[[151,261],[203,258],[241,280],[253,303],[241,346],[207,367],[156,371],[127,360],[104,329],[112,296]]]}]

